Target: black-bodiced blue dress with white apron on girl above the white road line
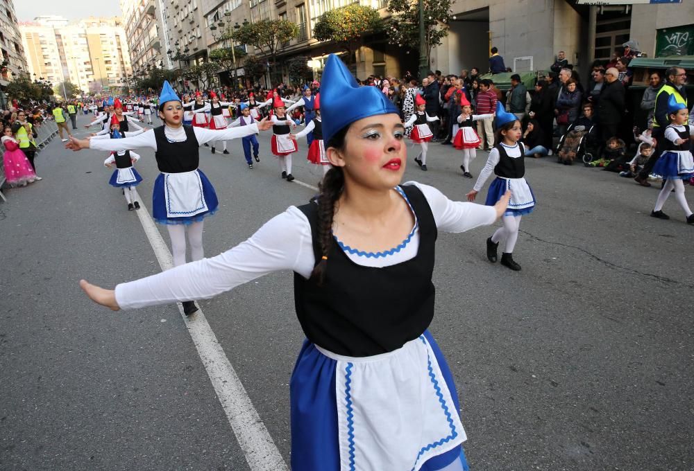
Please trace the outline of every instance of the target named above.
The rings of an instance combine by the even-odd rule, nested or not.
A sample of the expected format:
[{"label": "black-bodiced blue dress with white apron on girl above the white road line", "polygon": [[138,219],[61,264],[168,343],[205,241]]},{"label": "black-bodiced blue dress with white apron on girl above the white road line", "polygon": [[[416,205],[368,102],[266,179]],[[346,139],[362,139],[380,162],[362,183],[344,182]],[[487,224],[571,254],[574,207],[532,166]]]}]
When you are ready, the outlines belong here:
[{"label": "black-bodiced blue dress with white apron on girl above the white road line", "polygon": [[154,182],[152,216],[160,224],[192,224],[217,211],[219,202],[208,177],[198,170],[198,139],[183,126],[185,141],[169,141],[164,126],[154,128],[155,157],[161,174]]}]

